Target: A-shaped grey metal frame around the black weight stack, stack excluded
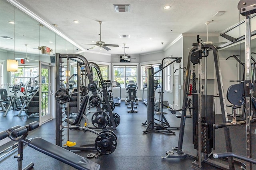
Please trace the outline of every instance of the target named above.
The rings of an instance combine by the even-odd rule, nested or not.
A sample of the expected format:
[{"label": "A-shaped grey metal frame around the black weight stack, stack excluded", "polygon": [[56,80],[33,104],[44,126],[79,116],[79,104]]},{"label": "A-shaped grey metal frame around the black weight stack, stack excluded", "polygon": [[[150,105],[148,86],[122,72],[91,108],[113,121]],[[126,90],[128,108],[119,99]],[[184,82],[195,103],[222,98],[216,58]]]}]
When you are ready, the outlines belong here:
[{"label": "A-shaped grey metal frame around the black weight stack, stack excluded", "polygon": [[[220,162],[216,162],[210,159],[212,153],[206,154],[203,152],[202,157],[202,96],[207,94],[202,93],[202,57],[207,57],[209,51],[213,52],[214,57],[214,66],[216,70],[216,79],[219,91],[219,99],[220,99],[220,109],[222,113],[222,122],[228,123],[227,111],[226,111],[226,102],[225,96],[223,92],[223,82],[222,82],[222,75],[220,71],[220,61],[218,57],[218,50],[212,44],[202,44],[200,43],[199,35],[197,36],[197,43],[193,43],[192,49],[190,49],[188,55],[188,66],[186,70],[186,80],[184,85],[184,96],[183,96],[183,105],[182,105],[182,115],[180,121],[180,134],[178,139],[178,147],[173,147],[174,150],[177,150],[177,154],[168,154],[167,156],[162,156],[161,158],[186,158],[187,156],[194,157],[192,155],[188,155],[182,151],[182,144],[184,138],[184,129],[185,129],[185,122],[186,122],[186,105],[188,103],[188,95],[189,95],[189,81],[190,81],[190,61],[193,63],[198,64],[198,147],[197,147],[197,156],[196,160],[192,163],[192,165],[196,168],[201,168],[201,163],[205,162],[212,166],[216,166],[217,168],[226,169],[226,170],[234,170],[234,160],[233,158],[228,158],[228,166],[222,164]],[[204,56],[202,56],[204,54]],[[205,90],[205,89],[204,89]],[[206,101],[205,97],[205,101]],[[195,107],[195,106],[194,106]],[[205,109],[205,108],[204,108]],[[225,135],[225,142],[226,142],[226,150],[227,152],[232,152],[231,140],[230,140],[230,131],[228,127],[224,127],[224,135]],[[213,139],[214,140],[214,139]],[[214,144],[213,144],[214,145]],[[214,148],[214,146],[213,146]]]}]

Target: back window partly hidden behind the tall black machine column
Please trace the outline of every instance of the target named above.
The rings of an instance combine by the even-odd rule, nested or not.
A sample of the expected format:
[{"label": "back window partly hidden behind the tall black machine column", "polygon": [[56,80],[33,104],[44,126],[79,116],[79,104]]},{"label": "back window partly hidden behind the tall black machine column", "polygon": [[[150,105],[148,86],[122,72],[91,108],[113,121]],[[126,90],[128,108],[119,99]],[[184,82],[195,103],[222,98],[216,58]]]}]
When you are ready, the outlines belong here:
[{"label": "back window partly hidden behind the tall black machine column", "polygon": [[[141,79],[141,84],[140,84],[140,88],[143,88],[143,84],[147,83],[148,81],[148,68],[150,67],[154,67],[154,72],[160,70],[159,69],[159,65],[160,64],[151,64],[151,65],[142,65],[141,66],[141,73],[142,73],[142,79]],[[159,71],[158,73],[156,73],[154,75],[154,79],[158,80],[158,83],[162,83],[162,71]]]}]

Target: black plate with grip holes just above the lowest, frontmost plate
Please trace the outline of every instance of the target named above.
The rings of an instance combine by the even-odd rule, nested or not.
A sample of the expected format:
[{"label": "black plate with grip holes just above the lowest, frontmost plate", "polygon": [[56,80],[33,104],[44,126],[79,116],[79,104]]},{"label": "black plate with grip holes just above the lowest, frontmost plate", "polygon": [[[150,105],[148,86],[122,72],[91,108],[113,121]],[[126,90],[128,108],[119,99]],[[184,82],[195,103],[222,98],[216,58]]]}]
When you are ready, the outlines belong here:
[{"label": "black plate with grip holes just above the lowest, frontmost plate", "polygon": [[96,128],[105,128],[109,124],[109,116],[105,111],[97,111],[92,115],[92,125]]}]

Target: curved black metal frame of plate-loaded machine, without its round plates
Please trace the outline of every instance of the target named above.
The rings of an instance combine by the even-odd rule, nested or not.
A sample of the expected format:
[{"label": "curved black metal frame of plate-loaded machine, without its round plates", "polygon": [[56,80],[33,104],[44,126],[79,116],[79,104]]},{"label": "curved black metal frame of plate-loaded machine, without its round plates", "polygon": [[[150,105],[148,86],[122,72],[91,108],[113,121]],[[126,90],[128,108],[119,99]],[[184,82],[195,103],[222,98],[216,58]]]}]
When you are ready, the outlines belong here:
[{"label": "curved black metal frame of plate-loaded machine, without its round plates", "polygon": [[[74,61],[77,61],[77,62],[80,62],[79,65],[81,68],[81,72],[82,71],[85,71],[83,73],[80,73],[80,71],[78,71],[78,77],[79,77],[79,85],[83,85],[82,83],[84,83],[84,75],[87,76],[88,78],[88,89],[90,91],[92,91],[92,95],[97,95],[97,92],[96,92],[96,88],[95,87],[95,83],[93,81],[93,77],[92,77],[92,72],[91,72],[91,67],[95,67],[96,70],[97,70],[97,73],[98,73],[98,77],[100,78],[100,81],[101,83],[103,84],[103,78],[102,78],[102,75],[100,73],[100,68],[97,64],[95,63],[90,63],[90,66],[89,66],[89,62],[87,61],[87,59],[80,55],[80,54],[60,54],[60,53],[56,53],[56,91],[58,91],[59,89],[63,89],[64,87],[64,59],[72,59]],[[83,65],[83,67],[81,67]],[[84,68],[84,69],[82,69]],[[95,85],[94,85],[95,84]],[[80,87],[78,86],[78,87]],[[94,90],[95,89],[95,90]],[[79,90],[79,89],[78,89]],[[103,91],[103,96],[107,96],[106,94],[106,91]],[[80,101],[82,101],[82,96],[80,97]],[[112,111],[111,111],[111,107],[110,107],[110,103],[108,100],[106,100],[106,103],[108,105],[108,112],[109,112],[109,116],[110,116],[110,119],[113,121],[112,122],[112,128],[113,129],[116,129],[116,124],[114,123],[114,117],[113,117],[113,114],[112,114]],[[68,107],[68,106],[67,106]],[[98,106],[96,107],[97,108],[97,111],[101,111],[101,107]],[[64,140],[63,139],[63,132],[64,132],[64,125],[62,125],[63,123],[63,113],[64,113],[64,105],[62,105],[61,103],[58,103],[56,102],[56,105],[55,105],[55,112],[56,112],[56,145],[58,146],[62,146],[62,141]],[[106,130],[106,129],[103,129],[103,130]]]}]

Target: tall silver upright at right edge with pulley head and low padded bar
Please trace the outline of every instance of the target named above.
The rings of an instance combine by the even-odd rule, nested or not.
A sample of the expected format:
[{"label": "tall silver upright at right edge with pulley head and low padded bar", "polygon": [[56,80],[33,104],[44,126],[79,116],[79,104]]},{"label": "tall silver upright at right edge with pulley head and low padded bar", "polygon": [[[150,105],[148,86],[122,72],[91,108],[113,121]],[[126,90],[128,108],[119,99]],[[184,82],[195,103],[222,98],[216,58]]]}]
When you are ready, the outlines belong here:
[{"label": "tall silver upright at right edge with pulley head and low padded bar", "polygon": [[[256,13],[256,1],[240,0],[238,3],[240,14],[245,17],[245,81],[244,81],[244,97],[245,97],[245,130],[246,130],[246,156],[240,156],[234,153],[214,154],[214,158],[239,158],[246,161],[246,170],[252,170],[252,163],[256,164],[256,160],[252,159],[252,97],[255,96],[255,82],[251,77],[251,14]],[[255,31],[254,31],[255,32]],[[254,34],[255,35],[255,34]],[[228,125],[228,124],[226,124]]]}]

